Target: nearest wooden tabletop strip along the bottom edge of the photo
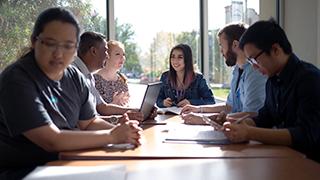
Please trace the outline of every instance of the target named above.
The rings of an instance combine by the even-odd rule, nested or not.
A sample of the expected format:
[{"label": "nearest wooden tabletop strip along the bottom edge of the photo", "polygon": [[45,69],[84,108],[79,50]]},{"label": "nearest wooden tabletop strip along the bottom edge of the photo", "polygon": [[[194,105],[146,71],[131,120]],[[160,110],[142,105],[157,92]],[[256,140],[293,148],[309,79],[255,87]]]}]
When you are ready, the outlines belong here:
[{"label": "nearest wooden tabletop strip along the bottom edge of the photo", "polygon": [[125,165],[128,180],[316,180],[320,172],[318,163],[304,158],[54,161],[48,165]]}]

